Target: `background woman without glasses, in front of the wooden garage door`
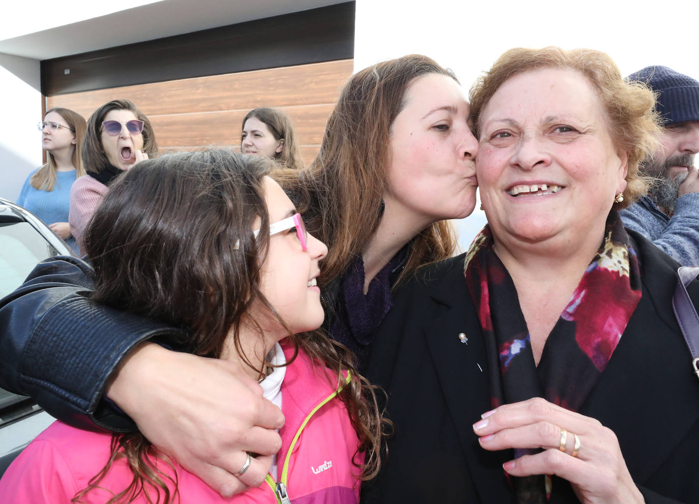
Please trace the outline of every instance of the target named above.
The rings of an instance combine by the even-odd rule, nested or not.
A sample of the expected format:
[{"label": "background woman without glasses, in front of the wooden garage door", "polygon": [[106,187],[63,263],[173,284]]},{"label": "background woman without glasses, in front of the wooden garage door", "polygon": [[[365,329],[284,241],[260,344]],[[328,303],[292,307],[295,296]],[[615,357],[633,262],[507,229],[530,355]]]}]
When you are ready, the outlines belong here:
[{"label": "background woman without glasses, in front of the wooden garage door", "polygon": [[272,158],[284,168],[303,168],[291,119],[277,108],[256,108],[247,112],[240,135],[240,151]]}]

